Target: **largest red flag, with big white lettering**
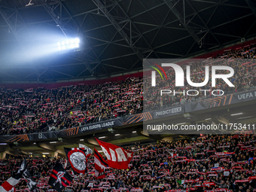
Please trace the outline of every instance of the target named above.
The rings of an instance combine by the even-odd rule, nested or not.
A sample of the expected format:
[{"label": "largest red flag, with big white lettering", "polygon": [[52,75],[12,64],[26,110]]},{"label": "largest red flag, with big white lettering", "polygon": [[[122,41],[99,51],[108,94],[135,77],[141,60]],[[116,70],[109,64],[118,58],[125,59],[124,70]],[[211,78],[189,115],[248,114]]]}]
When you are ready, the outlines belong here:
[{"label": "largest red flag, with big white lettering", "polygon": [[133,158],[133,152],[126,151],[117,145],[102,142],[98,139],[96,140],[102,148],[103,153],[107,157],[108,166],[114,169],[128,169],[130,160]]}]

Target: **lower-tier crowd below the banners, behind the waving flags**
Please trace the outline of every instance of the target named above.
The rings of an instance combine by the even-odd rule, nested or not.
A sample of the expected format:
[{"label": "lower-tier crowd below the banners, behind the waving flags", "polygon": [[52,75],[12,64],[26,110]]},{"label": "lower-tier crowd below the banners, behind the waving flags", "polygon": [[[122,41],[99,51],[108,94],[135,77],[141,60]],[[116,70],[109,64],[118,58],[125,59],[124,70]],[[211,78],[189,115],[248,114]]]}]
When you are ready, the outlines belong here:
[{"label": "lower-tier crowd below the banners, behind the waving flags", "polygon": [[[201,136],[177,142],[158,141],[126,147],[133,151],[129,169],[105,169],[105,178],[94,176],[93,155],[85,175],[74,176],[64,191],[237,191],[256,189],[256,136],[252,134]],[[58,158],[30,158],[29,171],[38,181],[35,191],[54,191],[47,181]],[[0,184],[17,170],[18,157],[0,160]],[[16,186],[26,191],[26,181]]]}]

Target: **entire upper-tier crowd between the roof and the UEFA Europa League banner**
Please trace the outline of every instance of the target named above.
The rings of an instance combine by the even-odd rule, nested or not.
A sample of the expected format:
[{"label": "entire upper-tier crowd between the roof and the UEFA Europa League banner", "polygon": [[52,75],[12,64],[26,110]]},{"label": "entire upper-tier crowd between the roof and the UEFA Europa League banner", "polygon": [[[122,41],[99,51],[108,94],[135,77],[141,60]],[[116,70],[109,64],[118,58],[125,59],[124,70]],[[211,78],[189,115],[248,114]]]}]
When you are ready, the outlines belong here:
[{"label": "entire upper-tier crowd between the roof and the UEFA Europa League banner", "polygon": [[[231,66],[235,70],[234,77],[230,79],[235,87],[227,87],[223,81],[218,81],[216,87],[211,87],[211,82],[209,82],[205,87],[200,88],[190,87],[185,82],[185,86],[176,91],[218,89],[224,90],[224,93],[230,93],[253,89],[256,85],[254,78],[256,51],[254,47],[254,44],[251,44],[236,50],[228,50],[214,60],[185,63],[190,65],[190,71],[193,72],[191,77],[196,83],[204,80],[203,66],[219,65],[220,63],[223,65],[223,62],[226,62],[226,66]],[[172,69],[169,69],[166,75],[167,81],[161,80],[160,77],[157,78],[157,87],[175,89],[175,74]],[[143,108],[147,110],[167,107],[212,96],[209,91],[206,93],[207,96],[204,96],[204,92],[200,92],[198,96],[177,94],[175,96],[163,95],[160,98],[156,88],[151,87],[151,78],[144,77],[143,81],[140,78],[128,78],[126,81],[107,82],[94,86],[83,84],[51,90],[43,88],[6,90],[1,88],[0,135],[62,130],[140,113]],[[143,86],[145,87],[144,93]],[[142,103],[143,98],[144,103]],[[74,113],[71,112],[72,110],[75,110]]]}]

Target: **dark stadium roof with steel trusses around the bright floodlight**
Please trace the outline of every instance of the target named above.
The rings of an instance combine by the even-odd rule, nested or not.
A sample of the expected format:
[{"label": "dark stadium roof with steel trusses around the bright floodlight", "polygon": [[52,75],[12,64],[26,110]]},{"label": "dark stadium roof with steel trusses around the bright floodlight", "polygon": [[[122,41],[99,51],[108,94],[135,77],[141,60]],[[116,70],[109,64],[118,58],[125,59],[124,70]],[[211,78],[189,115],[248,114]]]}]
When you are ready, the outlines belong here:
[{"label": "dark stadium roof with steel trusses around the bright floodlight", "polygon": [[[0,81],[109,77],[256,35],[251,0],[0,0]],[[69,53],[59,39],[80,38]],[[43,47],[43,49],[38,49]]]}]

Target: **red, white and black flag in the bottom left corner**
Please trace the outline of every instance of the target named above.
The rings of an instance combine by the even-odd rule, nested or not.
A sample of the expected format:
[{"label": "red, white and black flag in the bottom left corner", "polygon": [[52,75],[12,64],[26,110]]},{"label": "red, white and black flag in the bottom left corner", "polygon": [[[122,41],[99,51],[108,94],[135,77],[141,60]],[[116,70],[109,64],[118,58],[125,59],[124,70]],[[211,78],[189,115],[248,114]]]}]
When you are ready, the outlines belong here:
[{"label": "red, white and black flag in the bottom left corner", "polygon": [[11,178],[8,178],[8,180],[5,181],[5,183],[3,183],[0,186],[0,191],[1,192],[14,191],[15,190],[14,186],[16,184],[18,184],[18,182],[20,181],[20,178],[22,178],[22,175],[26,169],[26,166],[27,166],[27,163],[26,163],[26,159],[25,159],[25,160],[23,160],[23,163],[21,163],[20,169],[18,170],[17,174],[15,174]]}]

